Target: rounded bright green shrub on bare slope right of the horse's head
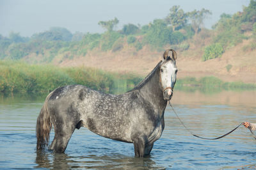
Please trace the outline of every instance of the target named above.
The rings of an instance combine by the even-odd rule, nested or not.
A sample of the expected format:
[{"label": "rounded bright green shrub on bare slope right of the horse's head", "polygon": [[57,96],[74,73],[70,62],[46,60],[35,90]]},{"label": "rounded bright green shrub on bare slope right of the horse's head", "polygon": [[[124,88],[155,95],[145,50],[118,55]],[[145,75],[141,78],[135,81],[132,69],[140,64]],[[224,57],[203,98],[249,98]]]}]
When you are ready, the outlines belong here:
[{"label": "rounded bright green shrub on bare slope right of the horse's head", "polygon": [[208,59],[214,59],[221,57],[221,54],[224,52],[223,47],[220,43],[214,43],[205,47],[203,61]]}]

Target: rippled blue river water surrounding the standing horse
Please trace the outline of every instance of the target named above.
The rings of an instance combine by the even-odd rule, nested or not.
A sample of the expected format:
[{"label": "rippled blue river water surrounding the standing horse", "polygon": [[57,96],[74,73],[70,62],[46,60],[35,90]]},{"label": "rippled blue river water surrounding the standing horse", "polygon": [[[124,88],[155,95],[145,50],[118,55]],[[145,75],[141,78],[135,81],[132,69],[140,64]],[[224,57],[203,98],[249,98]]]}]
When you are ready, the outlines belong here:
[{"label": "rippled blue river water surrounding the standing horse", "polygon": [[[256,168],[256,141],[239,127],[216,141],[191,136],[170,107],[162,137],[149,157],[134,157],[133,144],[75,130],[62,154],[36,151],[36,118],[43,97],[0,97],[0,169],[250,169]],[[222,91],[205,95],[175,91],[173,107],[187,127],[217,137],[241,121],[256,123],[256,91]],[[51,133],[51,139],[53,132]]]}]

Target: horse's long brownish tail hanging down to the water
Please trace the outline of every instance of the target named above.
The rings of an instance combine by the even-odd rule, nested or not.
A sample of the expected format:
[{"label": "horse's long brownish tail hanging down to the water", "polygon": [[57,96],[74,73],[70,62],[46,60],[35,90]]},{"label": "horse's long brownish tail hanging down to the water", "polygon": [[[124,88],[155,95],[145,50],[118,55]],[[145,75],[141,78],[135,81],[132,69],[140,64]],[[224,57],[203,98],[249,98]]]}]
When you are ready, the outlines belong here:
[{"label": "horse's long brownish tail hanging down to the water", "polygon": [[49,137],[50,137],[50,132],[52,128],[52,123],[50,120],[49,111],[47,109],[47,103],[48,103],[49,97],[51,97],[51,94],[52,93],[50,93],[46,97],[44,105],[36,121],[36,138],[37,138],[36,150],[44,150],[45,145],[49,146]]}]

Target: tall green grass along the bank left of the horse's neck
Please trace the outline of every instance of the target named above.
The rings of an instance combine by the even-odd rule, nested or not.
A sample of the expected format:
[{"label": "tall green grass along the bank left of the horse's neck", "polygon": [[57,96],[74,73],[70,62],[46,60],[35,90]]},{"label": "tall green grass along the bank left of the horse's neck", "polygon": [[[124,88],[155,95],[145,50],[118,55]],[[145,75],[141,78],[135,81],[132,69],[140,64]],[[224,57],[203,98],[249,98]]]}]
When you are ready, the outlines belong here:
[{"label": "tall green grass along the bank left of the horse's neck", "polygon": [[81,84],[99,91],[111,92],[116,84],[129,88],[140,80],[135,75],[118,75],[93,68],[59,68],[52,65],[0,61],[1,93],[46,93],[68,84]]}]

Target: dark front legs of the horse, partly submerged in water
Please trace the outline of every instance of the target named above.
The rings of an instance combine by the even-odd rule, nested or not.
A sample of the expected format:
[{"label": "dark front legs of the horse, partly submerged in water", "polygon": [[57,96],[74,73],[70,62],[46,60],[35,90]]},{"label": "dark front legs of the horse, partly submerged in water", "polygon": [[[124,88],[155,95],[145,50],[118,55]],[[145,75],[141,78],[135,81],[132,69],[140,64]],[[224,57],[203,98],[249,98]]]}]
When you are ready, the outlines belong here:
[{"label": "dark front legs of the horse, partly submerged in water", "polygon": [[145,155],[149,155],[153,148],[153,144],[148,144],[147,135],[134,135],[132,137],[132,142],[136,157],[144,157]]}]

